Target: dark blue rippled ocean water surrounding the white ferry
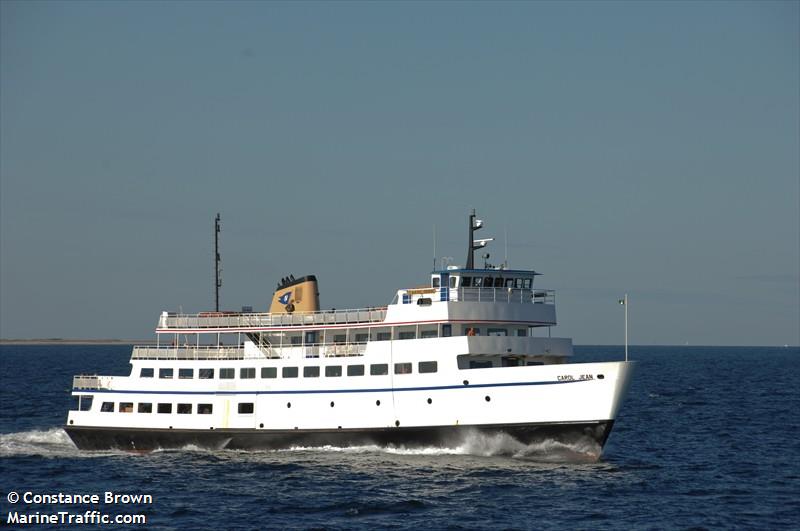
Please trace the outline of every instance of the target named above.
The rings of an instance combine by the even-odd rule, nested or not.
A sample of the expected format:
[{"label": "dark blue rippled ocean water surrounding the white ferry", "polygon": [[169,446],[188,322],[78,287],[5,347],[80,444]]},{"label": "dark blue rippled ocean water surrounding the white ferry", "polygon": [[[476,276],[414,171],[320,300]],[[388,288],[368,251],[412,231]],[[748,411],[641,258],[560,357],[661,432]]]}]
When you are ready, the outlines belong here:
[{"label": "dark blue rippled ocean water surrounding the white ferry", "polygon": [[[592,461],[589,448],[503,438],[415,451],[82,452],[60,428],[72,376],[126,374],[130,347],[0,346],[0,527],[75,528],[7,519],[97,509],[145,515],[109,526],[134,529],[798,529],[800,349],[630,354],[637,372]],[[578,361],[621,357],[576,347]],[[152,502],[12,504],[10,492]]]}]

